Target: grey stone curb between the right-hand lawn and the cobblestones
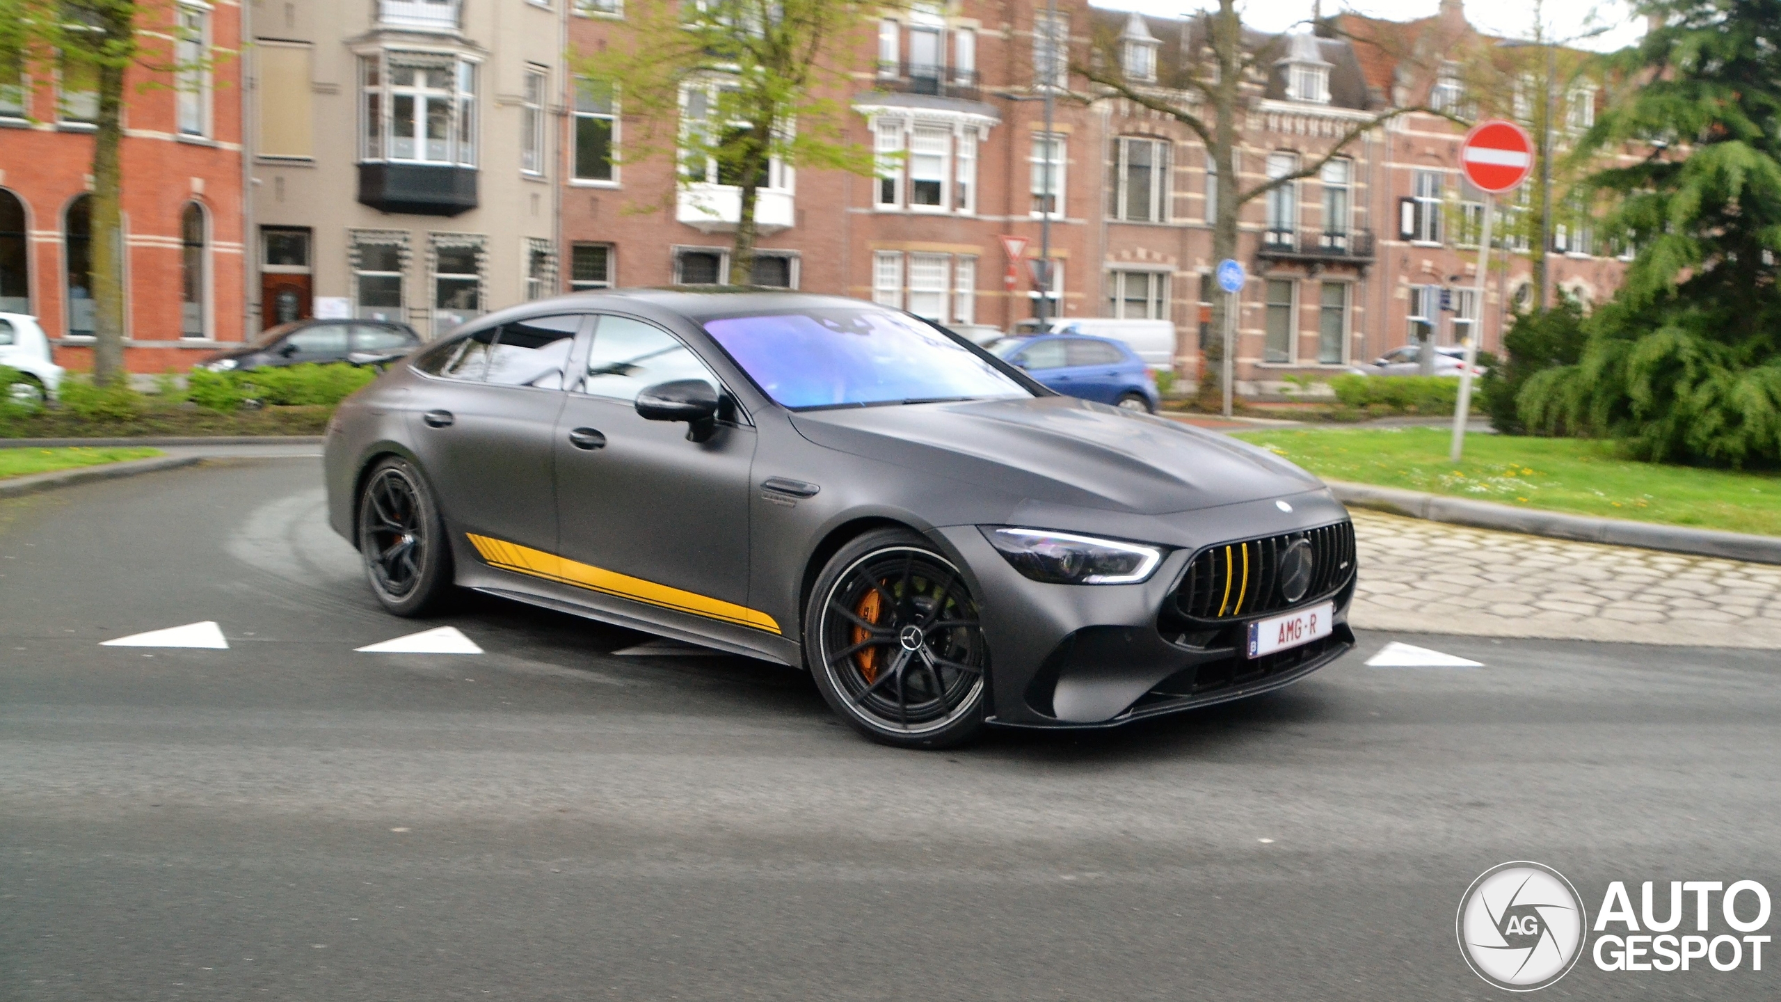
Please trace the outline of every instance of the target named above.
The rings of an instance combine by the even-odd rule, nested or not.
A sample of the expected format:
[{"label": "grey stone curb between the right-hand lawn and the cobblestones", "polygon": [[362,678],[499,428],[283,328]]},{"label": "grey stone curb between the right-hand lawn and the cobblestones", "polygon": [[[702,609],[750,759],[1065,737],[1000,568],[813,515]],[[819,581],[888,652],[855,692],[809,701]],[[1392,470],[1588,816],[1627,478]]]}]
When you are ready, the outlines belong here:
[{"label": "grey stone curb between the right-hand lawn and the cobblestones", "polygon": [[1411,519],[1428,519],[1432,522],[1452,522],[1455,526],[1473,526],[1480,530],[1505,530],[1512,533],[1578,542],[1637,546],[1640,549],[1663,549],[1669,553],[1719,556],[1724,560],[1745,560],[1753,563],[1781,563],[1781,538],[1777,537],[1726,533],[1719,530],[1690,530],[1685,526],[1658,526],[1653,522],[1628,522],[1621,519],[1594,519],[1590,515],[1565,515],[1560,512],[1535,512],[1530,508],[1498,505],[1494,501],[1444,497],[1441,494],[1398,490],[1395,487],[1373,487],[1370,483],[1346,483],[1339,480],[1327,480],[1325,483],[1343,505],[1387,512],[1391,515],[1409,515]]}]

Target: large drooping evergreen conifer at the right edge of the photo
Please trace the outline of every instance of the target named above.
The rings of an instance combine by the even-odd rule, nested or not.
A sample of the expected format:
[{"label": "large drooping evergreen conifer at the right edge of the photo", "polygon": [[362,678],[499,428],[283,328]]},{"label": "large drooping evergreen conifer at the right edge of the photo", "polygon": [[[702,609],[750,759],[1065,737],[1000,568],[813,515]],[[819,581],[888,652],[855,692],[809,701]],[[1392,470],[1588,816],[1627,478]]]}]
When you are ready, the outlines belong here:
[{"label": "large drooping evergreen conifer at the right edge of the photo", "polygon": [[1630,98],[1583,152],[1653,153],[1598,171],[1619,198],[1610,232],[1639,253],[1583,330],[1574,365],[1528,378],[1535,431],[1621,439],[1631,453],[1717,465],[1781,464],[1781,4],[1644,0],[1660,27],[1622,57]]}]

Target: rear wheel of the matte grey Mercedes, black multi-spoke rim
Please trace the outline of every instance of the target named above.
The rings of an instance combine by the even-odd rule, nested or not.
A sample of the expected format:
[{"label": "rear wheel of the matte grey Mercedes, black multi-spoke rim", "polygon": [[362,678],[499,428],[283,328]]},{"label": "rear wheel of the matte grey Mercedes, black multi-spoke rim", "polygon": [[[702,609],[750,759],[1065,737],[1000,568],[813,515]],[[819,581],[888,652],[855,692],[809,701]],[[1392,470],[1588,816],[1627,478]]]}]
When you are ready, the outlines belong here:
[{"label": "rear wheel of the matte grey Mercedes, black multi-spoke rim", "polygon": [[372,594],[395,615],[426,615],[451,592],[445,524],[426,480],[408,460],[385,458],[365,478],[358,496],[358,553]]}]

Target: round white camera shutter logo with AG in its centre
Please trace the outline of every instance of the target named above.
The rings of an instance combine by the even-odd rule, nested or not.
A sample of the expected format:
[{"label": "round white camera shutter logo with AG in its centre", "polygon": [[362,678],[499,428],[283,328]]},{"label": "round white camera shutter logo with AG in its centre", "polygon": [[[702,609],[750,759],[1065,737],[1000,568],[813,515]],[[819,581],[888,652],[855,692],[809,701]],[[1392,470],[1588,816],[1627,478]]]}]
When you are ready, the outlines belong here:
[{"label": "round white camera shutter logo with AG in its centre", "polygon": [[1558,870],[1514,861],[1466,888],[1455,934],[1478,977],[1507,991],[1533,991],[1576,965],[1587,918],[1576,888]]}]

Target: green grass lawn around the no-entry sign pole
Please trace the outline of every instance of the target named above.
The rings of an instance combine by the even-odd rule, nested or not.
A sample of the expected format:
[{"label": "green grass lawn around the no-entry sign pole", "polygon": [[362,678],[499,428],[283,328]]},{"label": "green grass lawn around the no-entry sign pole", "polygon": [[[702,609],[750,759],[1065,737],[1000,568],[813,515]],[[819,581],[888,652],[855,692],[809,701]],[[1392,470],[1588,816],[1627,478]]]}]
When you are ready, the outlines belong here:
[{"label": "green grass lawn around the no-entry sign pole", "polygon": [[1238,435],[1327,480],[1350,480],[1671,526],[1781,535],[1781,476],[1619,458],[1608,442],[1466,435],[1450,428],[1282,428]]}]

